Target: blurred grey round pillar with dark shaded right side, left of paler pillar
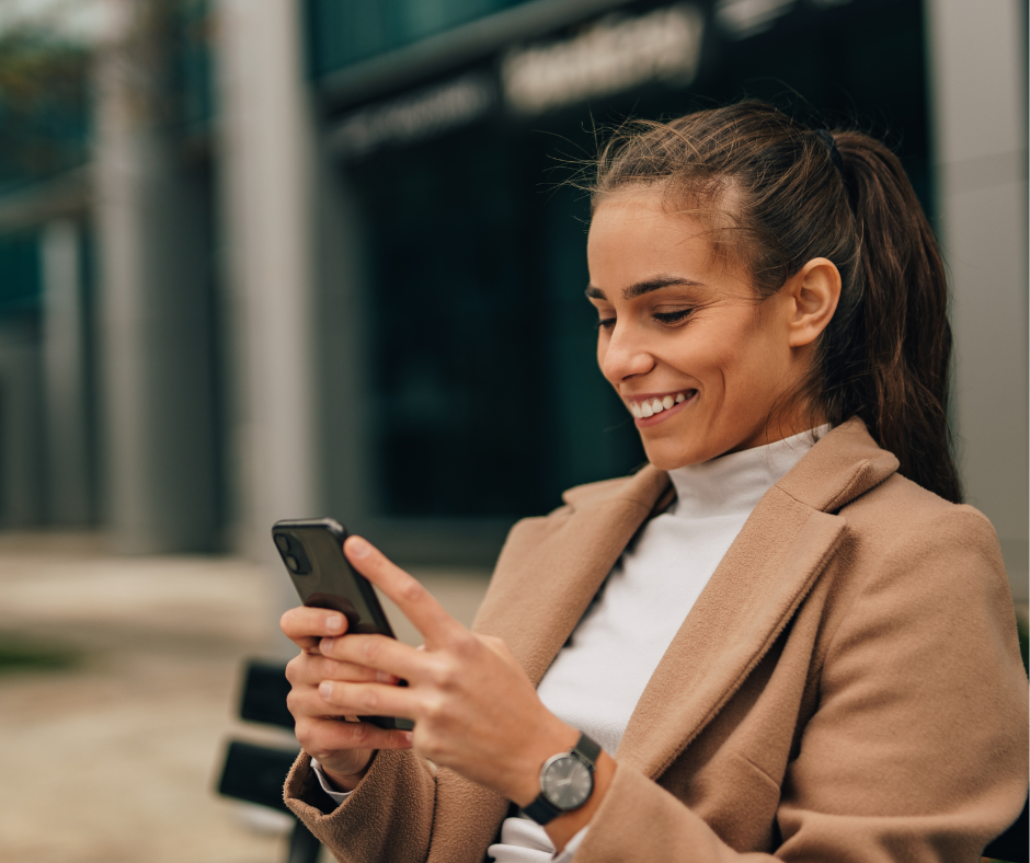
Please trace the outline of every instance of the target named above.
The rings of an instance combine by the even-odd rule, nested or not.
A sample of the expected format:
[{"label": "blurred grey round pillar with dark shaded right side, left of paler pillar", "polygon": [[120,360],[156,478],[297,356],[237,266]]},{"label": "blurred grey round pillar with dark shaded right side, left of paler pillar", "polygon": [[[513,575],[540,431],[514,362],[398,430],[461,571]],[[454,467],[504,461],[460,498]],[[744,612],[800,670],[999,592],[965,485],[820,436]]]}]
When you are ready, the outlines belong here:
[{"label": "blurred grey round pillar with dark shaded right side, left of paler pillar", "polygon": [[158,0],[112,0],[95,110],[106,520],[125,552],[208,550],[217,531],[208,206],[170,120]]}]

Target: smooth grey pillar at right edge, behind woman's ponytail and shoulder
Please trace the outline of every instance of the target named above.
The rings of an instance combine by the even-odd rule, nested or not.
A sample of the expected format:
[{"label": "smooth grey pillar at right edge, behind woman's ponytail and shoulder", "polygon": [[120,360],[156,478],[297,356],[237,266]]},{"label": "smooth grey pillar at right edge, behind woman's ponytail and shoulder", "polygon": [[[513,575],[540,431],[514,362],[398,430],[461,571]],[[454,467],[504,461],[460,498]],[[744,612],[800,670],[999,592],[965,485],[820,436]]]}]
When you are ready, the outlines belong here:
[{"label": "smooth grey pillar at right edge, behind woman's ponytail and shoulder", "polygon": [[927,0],[939,226],[969,503],[1028,595],[1027,91],[1019,0]]}]

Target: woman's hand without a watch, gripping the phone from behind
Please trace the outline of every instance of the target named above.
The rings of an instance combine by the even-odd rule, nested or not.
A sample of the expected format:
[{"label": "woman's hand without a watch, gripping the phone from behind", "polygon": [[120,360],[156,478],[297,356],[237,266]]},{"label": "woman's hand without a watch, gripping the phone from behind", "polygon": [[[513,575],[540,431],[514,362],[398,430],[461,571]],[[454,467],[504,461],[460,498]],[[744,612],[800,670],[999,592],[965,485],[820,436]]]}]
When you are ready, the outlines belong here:
[{"label": "woman's hand without a watch, gripping the phone from behind", "polygon": [[286,666],[289,695],[286,705],[294,714],[294,732],[304,750],[317,759],[322,772],[340,791],[353,791],[377,749],[410,749],[411,733],[387,730],[356,717],[340,716],[322,700],[323,680],[397,683],[397,678],[364,666],[322,656],[319,641],[346,632],[347,619],[339,611],[301,606],[283,614],[279,626],[300,647],[300,654]]}]

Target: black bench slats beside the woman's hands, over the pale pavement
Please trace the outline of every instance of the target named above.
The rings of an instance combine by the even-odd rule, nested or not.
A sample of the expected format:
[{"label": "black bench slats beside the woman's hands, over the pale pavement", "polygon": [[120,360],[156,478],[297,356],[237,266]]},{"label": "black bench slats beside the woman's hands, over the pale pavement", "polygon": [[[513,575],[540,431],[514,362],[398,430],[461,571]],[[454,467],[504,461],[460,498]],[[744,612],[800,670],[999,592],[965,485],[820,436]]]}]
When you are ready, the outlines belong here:
[{"label": "black bench slats beside the woman's hands, over the pale pavement", "polygon": [[[289,683],[285,670],[286,666],[277,663],[260,659],[245,663],[240,691],[240,718],[293,732],[294,717],[286,709]],[[299,751],[296,748],[283,749],[230,740],[218,781],[218,793],[294,817],[283,802],[283,784]],[[286,863],[316,863],[320,848],[318,839],[295,818]]]}]

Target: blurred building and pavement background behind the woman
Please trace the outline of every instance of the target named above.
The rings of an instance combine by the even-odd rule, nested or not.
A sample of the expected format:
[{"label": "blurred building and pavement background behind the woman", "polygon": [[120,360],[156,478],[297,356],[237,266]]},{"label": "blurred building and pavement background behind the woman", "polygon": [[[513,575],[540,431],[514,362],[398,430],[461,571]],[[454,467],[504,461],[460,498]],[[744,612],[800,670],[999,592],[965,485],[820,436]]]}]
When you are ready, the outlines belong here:
[{"label": "blurred building and pavement background behind the woman", "polygon": [[271,523],[470,619],[516,518],[642,460],[561,181],[743,95],[901,157],[1025,613],[1025,3],[0,0],[0,856],[282,856],[210,792],[240,658],[286,653]]}]

